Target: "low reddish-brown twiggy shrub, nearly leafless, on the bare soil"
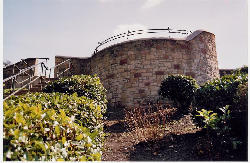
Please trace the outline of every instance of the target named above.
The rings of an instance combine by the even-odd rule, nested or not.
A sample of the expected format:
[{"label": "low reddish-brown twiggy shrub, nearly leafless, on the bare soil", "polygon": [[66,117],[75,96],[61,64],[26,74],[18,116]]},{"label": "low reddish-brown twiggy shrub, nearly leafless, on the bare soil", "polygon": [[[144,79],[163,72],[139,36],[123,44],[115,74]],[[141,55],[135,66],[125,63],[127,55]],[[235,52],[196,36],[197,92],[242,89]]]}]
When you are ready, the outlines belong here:
[{"label": "low reddish-brown twiggy shrub, nearly leafless, on the bare soil", "polygon": [[166,136],[166,123],[175,109],[159,103],[141,104],[138,107],[125,108],[127,129],[136,131],[136,141],[157,141]]}]

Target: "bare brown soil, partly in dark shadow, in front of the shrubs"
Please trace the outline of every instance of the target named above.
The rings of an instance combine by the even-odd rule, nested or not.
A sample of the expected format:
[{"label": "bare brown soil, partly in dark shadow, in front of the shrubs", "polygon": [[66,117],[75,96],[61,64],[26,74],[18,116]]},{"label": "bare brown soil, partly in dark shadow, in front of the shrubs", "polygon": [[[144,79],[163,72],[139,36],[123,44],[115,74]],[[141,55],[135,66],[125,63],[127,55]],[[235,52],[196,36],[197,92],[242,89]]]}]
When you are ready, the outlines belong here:
[{"label": "bare brown soil, partly in dark shadow, in front of the shrubs", "polygon": [[[116,119],[117,118],[117,119]],[[226,153],[210,143],[206,133],[197,128],[190,115],[169,122],[158,136],[152,128],[126,128],[118,115],[105,120],[107,133],[103,161],[246,161],[247,150]]]}]

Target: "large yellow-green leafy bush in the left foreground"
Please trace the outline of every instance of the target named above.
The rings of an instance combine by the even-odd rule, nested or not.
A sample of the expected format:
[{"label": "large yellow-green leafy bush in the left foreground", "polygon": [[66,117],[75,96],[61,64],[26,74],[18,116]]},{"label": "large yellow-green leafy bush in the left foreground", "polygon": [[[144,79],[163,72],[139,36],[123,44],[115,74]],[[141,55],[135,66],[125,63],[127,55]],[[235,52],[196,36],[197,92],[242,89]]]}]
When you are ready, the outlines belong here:
[{"label": "large yellow-green leafy bush in the left foreground", "polygon": [[76,94],[11,97],[4,102],[4,159],[100,160],[104,108]]}]

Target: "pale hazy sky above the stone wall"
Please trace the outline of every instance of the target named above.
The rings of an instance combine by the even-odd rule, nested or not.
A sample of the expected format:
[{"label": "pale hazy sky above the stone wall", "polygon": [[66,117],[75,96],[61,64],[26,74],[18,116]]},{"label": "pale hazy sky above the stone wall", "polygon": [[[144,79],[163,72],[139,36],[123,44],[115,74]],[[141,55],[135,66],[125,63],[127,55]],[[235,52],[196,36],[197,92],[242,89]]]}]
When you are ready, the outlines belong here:
[{"label": "pale hazy sky above the stone wall", "polygon": [[214,33],[219,68],[248,64],[247,0],[4,0],[3,56],[88,57],[115,33],[167,27]]}]

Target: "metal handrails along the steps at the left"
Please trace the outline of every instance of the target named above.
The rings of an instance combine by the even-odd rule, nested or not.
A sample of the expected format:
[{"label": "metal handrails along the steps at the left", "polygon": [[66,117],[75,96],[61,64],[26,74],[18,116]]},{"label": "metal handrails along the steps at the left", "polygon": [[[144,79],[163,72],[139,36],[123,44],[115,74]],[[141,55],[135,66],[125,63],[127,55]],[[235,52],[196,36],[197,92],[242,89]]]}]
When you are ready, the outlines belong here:
[{"label": "metal handrails along the steps at the left", "polygon": [[[65,73],[71,69],[71,59],[67,59],[67,60],[61,62],[60,64],[58,64],[54,67],[51,67],[50,69],[45,65],[44,62],[40,62],[38,64],[32,65],[32,66],[24,68],[24,69],[20,69],[17,65],[13,64],[13,74],[14,74],[15,68],[17,68],[19,70],[19,72],[17,74],[10,76],[10,77],[7,77],[6,79],[3,80],[3,83],[6,83],[6,82],[11,80],[10,85],[11,85],[11,90],[12,90],[10,95],[8,95],[6,98],[4,98],[4,100],[10,98],[12,95],[15,95],[16,93],[20,92],[21,90],[23,90],[26,87],[28,87],[28,91],[30,91],[30,89],[32,88],[32,84],[35,81],[37,81],[38,79],[40,79],[41,80],[40,82],[42,83],[42,80],[43,80],[42,76],[45,76],[45,78],[46,78],[48,70],[49,70],[49,74],[48,74],[49,78],[48,79],[50,80],[52,69],[55,70],[55,68],[58,68],[59,66],[62,66],[63,64],[67,64],[68,66],[62,72],[58,71],[55,75],[56,78],[61,77],[61,75],[64,76]],[[42,71],[41,71],[40,75],[35,76],[35,70],[33,70],[33,69],[35,69],[39,66],[41,66]],[[25,76],[27,76],[27,78],[23,79],[21,81],[18,81],[17,77],[22,75],[22,74],[25,74]],[[18,89],[15,89],[17,84],[19,84],[20,87]]]}]

